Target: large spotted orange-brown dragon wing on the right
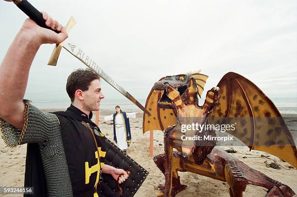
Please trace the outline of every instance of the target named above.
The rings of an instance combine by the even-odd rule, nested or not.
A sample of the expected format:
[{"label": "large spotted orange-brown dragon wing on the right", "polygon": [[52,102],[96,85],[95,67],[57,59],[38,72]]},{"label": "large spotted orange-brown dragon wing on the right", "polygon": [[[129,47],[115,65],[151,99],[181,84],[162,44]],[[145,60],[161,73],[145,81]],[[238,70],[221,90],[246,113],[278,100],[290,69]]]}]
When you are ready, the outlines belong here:
[{"label": "large spotted orange-brown dragon wing on the right", "polygon": [[270,153],[297,168],[293,136],[276,106],[260,88],[233,72],[224,75],[217,86],[220,100],[210,114],[209,123],[229,124],[237,118],[239,122],[235,130],[226,132],[237,137],[250,150]]}]

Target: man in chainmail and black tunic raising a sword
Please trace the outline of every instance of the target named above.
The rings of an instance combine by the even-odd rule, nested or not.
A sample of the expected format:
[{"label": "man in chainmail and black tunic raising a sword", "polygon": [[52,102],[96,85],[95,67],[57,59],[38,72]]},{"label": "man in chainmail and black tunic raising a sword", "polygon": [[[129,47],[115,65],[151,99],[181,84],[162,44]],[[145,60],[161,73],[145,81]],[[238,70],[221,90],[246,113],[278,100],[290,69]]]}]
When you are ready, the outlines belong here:
[{"label": "man in chainmail and black tunic raising a sword", "polygon": [[[48,27],[61,33],[41,28],[33,20],[26,19],[1,63],[2,139],[8,147],[28,143],[25,186],[34,187],[34,197],[98,197],[99,193],[108,196],[101,195],[101,190],[113,189],[101,187],[100,190],[101,173],[109,174],[114,182],[123,183],[128,179],[129,171],[106,164],[105,158],[115,158],[114,153],[108,156],[114,145],[91,121],[92,111],[99,110],[100,100],[104,98],[99,76],[88,69],[70,74],[66,90],[71,105],[66,112],[44,113],[23,99],[29,70],[39,47],[59,44],[67,38],[61,24],[47,13],[43,13],[43,18]],[[105,174],[102,177],[110,181]]]}]

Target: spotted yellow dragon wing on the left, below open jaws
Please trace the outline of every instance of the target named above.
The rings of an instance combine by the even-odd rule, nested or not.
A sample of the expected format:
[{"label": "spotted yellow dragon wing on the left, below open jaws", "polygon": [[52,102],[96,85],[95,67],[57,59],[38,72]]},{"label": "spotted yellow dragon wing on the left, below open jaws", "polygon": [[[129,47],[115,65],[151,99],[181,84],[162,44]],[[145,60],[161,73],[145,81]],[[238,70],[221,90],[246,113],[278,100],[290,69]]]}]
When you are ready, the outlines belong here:
[{"label": "spotted yellow dragon wing on the left, below open jaws", "polygon": [[145,106],[150,115],[144,113],[143,133],[153,130],[164,131],[169,125],[176,124],[177,112],[173,109],[161,109],[157,104],[163,93],[164,90],[150,90]]}]

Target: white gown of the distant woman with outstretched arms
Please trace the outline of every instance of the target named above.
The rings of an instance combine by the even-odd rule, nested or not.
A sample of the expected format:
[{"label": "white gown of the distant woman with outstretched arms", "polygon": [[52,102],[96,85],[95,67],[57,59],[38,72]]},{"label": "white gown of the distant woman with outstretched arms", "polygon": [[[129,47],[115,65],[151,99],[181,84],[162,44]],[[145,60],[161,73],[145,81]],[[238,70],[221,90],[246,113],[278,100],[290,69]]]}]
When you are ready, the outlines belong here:
[{"label": "white gown of the distant woman with outstretched arms", "polygon": [[[127,118],[135,118],[136,113],[126,113]],[[113,120],[114,115],[104,116],[104,121]],[[123,114],[116,114],[115,115],[115,135],[117,140],[117,147],[121,150],[125,150],[128,148],[127,141],[126,141],[126,131],[123,122]]]}]

